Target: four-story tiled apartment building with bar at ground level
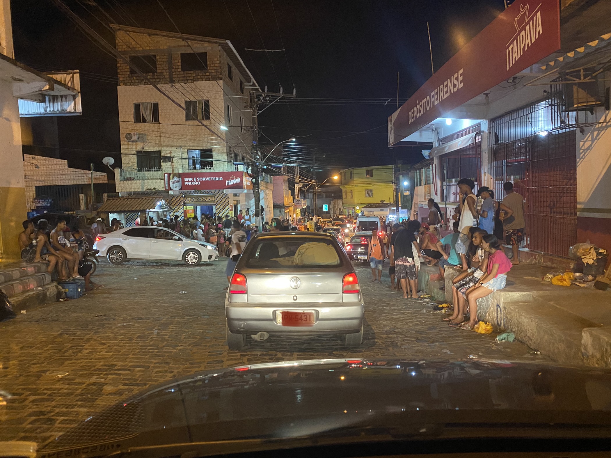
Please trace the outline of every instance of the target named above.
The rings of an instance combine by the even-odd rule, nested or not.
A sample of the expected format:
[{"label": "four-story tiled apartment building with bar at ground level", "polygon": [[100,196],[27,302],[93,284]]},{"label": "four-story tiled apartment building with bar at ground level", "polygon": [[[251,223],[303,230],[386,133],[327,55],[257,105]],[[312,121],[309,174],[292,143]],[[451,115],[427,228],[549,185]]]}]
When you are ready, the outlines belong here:
[{"label": "four-story tiled apartment building with bar at ground level", "polygon": [[[229,40],[112,28],[117,50],[130,62],[117,60],[122,167],[115,170],[115,177],[119,195],[169,198],[174,194],[169,213],[183,214],[181,206],[187,204],[197,214],[224,215],[238,208],[252,212],[254,195],[246,186],[172,191],[164,180],[166,173],[243,175],[244,165],[236,163],[250,159],[252,125],[257,122],[250,106],[258,85]],[[271,215],[272,186],[262,180],[261,187],[262,206]],[[178,202],[178,195],[183,201]],[[136,217],[134,213],[123,219],[130,224]]]}]

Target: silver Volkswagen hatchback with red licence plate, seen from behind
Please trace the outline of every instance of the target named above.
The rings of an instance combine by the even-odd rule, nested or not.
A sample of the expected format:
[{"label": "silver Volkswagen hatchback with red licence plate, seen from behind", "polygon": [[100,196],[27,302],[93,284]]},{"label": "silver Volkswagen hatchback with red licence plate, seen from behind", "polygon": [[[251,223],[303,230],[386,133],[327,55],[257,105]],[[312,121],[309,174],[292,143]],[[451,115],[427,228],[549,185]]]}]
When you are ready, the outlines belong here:
[{"label": "silver Volkswagen hatchback with red licence plate, seen from behind", "polygon": [[337,239],[315,232],[267,232],[244,248],[227,289],[227,345],[246,336],[343,334],[363,339],[364,302],[354,268]]}]

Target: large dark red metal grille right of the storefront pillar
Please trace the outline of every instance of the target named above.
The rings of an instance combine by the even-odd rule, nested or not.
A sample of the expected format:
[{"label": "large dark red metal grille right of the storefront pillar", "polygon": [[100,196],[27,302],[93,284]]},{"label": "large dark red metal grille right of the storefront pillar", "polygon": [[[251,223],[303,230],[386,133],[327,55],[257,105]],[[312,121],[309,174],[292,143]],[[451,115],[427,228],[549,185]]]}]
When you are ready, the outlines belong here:
[{"label": "large dark red metal grille right of the storefront pillar", "polygon": [[577,242],[576,131],[561,94],[492,120],[492,173],[497,200],[505,181],[524,197],[523,245],[567,256]]}]

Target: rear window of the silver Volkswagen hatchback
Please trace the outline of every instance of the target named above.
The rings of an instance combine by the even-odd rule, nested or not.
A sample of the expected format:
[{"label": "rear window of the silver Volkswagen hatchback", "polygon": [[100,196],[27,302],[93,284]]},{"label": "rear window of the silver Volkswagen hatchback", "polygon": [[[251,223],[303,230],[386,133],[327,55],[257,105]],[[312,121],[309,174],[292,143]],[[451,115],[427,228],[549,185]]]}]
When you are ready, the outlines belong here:
[{"label": "rear window of the silver Volkswagen hatchback", "polygon": [[268,237],[255,240],[246,260],[253,269],[303,269],[342,265],[332,240],[314,237]]}]

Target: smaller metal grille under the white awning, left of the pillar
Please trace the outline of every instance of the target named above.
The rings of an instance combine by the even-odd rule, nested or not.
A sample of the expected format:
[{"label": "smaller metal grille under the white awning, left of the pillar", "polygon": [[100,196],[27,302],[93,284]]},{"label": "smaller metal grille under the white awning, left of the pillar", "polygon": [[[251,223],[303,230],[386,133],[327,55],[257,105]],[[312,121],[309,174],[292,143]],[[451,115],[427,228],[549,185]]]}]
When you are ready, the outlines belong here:
[{"label": "smaller metal grille under the white awning, left of the pillar", "polygon": [[[479,124],[470,126],[441,139],[442,144],[479,132]],[[441,156],[442,191],[444,202],[458,202],[458,180],[471,178],[475,189],[481,186],[481,135],[475,136],[475,143],[452,153]]]}]

